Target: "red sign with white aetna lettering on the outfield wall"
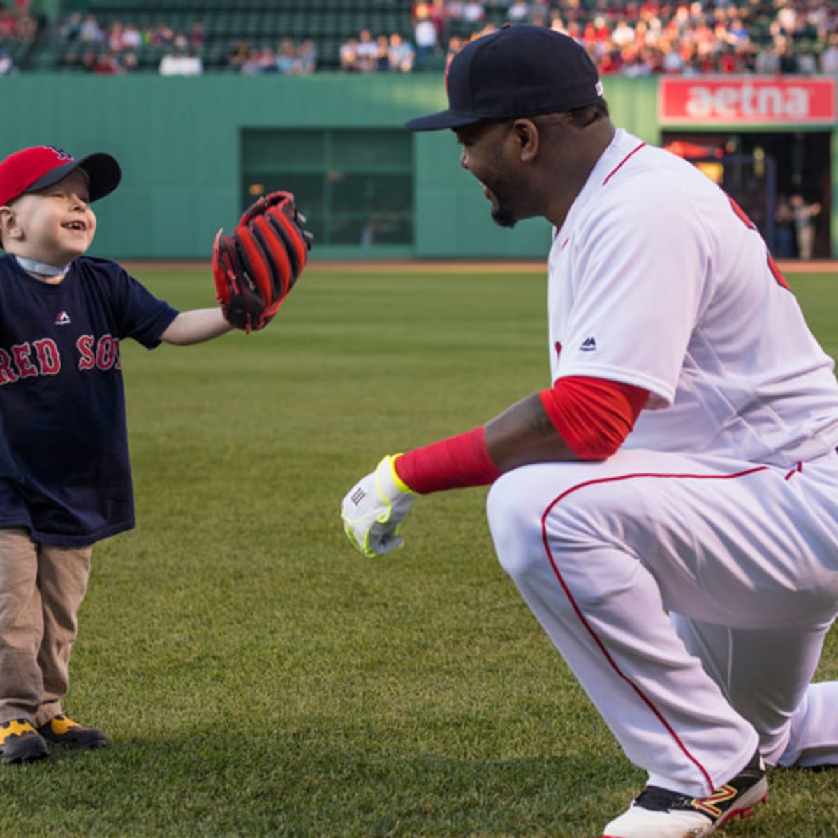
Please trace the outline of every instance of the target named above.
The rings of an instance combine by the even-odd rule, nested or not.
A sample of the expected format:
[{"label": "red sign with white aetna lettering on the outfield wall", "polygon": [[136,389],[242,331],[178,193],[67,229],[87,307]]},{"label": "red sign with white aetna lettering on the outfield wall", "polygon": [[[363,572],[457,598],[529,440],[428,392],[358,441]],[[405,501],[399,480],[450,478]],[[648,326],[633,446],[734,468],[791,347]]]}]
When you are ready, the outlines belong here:
[{"label": "red sign with white aetna lettering on the outfield wall", "polygon": [[662,123],[835,122],[835,79],[662,76],[658,111]]}]

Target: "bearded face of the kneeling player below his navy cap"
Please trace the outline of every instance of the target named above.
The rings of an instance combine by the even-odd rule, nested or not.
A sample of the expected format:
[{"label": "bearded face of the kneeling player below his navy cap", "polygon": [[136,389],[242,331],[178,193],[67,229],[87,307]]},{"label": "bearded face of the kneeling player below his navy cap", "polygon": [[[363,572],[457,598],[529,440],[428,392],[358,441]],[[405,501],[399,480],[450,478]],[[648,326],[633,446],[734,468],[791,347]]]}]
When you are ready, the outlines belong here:
[{"label": "bearded face of the kneeling player below his navy cap", "polygon": [[520,178],[507,157],[513,122],[478,122],[458,128],[460,165],[483,184],[483,194],[492,204],[492,218],[502,227],[514,227],[524,218],[516,204]]}]

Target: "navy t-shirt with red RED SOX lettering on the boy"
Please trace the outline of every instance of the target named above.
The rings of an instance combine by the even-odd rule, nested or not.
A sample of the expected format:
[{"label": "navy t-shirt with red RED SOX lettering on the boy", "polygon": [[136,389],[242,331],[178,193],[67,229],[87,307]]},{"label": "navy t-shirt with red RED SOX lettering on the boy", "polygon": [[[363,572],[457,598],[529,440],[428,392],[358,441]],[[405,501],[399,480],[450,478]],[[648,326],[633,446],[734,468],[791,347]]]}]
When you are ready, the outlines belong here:
[{"label": "navy t-shirt with red RED SOX lettering on the boy", "polygon": [[0,256],[0,527],[59,546],[132,528],[119,342],[153,349],[177,315],[115,262],[50,285]]}]

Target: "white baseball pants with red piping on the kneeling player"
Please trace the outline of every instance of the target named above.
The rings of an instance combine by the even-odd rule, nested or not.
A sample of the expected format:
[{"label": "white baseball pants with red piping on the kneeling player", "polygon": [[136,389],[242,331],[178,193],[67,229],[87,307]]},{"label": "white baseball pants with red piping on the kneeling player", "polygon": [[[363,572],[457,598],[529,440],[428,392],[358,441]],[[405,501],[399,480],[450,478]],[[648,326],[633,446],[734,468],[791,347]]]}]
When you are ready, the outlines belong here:
[{"label": "white baseball pants with red piping on the kneeling player", "polygon": [[649,783],[704,796],[759,744],[838,763],[838,454],[797,468],[639,450],[517,468],[499,561]]}]

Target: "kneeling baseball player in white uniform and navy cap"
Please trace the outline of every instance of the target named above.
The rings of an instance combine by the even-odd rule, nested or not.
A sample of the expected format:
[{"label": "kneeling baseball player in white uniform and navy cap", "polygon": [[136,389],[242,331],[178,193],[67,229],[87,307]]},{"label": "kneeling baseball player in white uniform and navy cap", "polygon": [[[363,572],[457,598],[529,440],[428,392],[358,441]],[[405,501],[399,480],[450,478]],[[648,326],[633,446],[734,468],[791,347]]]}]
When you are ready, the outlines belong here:
[{"label": "kneeling baseball player in white uniform and navy cap", "polygon": [[499,561],[648,773],[603,838],[696,838],[766,798],[767,766],[838,764],[838,385],[737,204],[608,118],[547,28],[468,44],[450,128],[500,225],[544,216],[551,386],[383,458],[343,501],[365,556],[424,494],[492,484]]}]

